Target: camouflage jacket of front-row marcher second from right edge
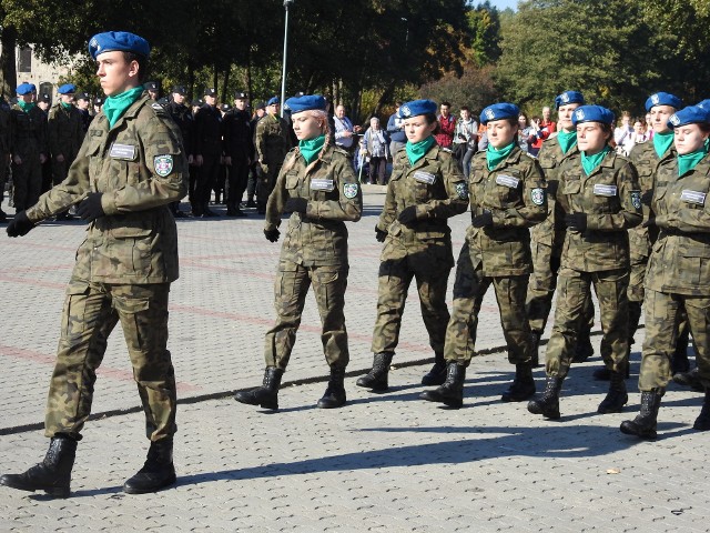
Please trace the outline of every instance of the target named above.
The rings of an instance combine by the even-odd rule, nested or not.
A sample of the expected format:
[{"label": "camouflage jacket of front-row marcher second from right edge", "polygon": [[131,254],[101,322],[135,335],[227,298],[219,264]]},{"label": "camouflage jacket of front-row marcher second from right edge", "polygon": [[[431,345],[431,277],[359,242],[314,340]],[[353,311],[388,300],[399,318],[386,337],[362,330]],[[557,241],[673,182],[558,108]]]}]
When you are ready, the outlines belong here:
[{"label": "camouflage jacket of front-row marcher second from right edge", "polygon": [[629,228],[641,223],[641,193],[633,165],[609,152],[590,175],[581,154],[566,159],[557,201],[565,213],[586,213],[584,233],[567,230],[560,268],[598,272],[629,268]]}]

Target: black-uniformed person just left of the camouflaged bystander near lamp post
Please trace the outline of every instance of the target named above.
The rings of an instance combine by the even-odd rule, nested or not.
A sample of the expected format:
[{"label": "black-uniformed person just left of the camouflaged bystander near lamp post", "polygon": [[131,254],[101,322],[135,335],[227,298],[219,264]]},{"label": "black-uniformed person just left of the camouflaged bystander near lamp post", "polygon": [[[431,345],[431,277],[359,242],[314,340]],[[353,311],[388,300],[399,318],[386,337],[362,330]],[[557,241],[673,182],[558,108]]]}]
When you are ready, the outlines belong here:
[{"label": "black-uniformed person just left of the camouflaged bystander near lamp post", "polygon": [[248,167],[254,155],[251,117],[246,111],[247,95],[237,91],[234,94],[234,108],[223,122],[224,164],[227,168],[226,215],[246,217],[240,204],[248,182]]}]

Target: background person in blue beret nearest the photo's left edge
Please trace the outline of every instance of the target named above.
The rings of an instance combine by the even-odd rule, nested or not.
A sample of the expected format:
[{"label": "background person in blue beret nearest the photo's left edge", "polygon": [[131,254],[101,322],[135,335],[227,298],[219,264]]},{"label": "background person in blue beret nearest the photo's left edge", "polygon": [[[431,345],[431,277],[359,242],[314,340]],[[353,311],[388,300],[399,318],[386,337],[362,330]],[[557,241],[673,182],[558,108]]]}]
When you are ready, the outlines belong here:
[{"label": "background person in blue beret nearest the photo's left edge", "polygon": [[22,83],[16,92],[18,103],[11,108],[11,143],[13,203],[23,211],[42,192],[42,164],[47,161],[47,115],[32,101],[34,86]]}]

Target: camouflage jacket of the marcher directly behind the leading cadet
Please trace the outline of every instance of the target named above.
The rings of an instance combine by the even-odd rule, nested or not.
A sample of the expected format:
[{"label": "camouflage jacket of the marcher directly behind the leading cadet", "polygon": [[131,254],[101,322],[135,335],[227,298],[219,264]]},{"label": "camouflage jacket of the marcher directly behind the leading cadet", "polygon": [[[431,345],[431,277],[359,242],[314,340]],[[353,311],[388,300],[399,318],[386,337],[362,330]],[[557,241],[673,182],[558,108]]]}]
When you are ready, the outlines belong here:
[{"label": "camouflage jacket of the marcher directly behind the leading cadet", "polygon": [[345,221],[357,222],[363,210],[363,192],[347,152],[331,145],[321,160],[307,167],[296,149],[288,152],[266,203],[266,231],[278,228],[290,198],[305,198],[308,203],[305,213],[292,213],[288,219],[282,261],[346,265]]}]

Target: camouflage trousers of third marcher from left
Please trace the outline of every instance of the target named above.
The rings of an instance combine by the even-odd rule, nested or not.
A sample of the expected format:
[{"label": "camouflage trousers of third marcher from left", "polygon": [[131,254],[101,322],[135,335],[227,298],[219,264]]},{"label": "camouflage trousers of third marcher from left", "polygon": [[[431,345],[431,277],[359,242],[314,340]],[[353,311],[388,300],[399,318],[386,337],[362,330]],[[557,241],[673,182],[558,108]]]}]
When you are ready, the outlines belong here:
[{"label": "camouflage trousers of third marcher from left", "polygon": [[[450,253],[450,252],[449,252]],[[417,283],[419,308],[424,326],[429,334],[434,353],[444,353],[446,324],[449,314],[446,305],[446,288],[450,266],[435,257],[389,259],[379,263],[377,290],[377,318],[373,331],[373,353],[393,352],[399,343],[402,315],[412,280]],[[437,269],[436,265],[440,265]]]}]

